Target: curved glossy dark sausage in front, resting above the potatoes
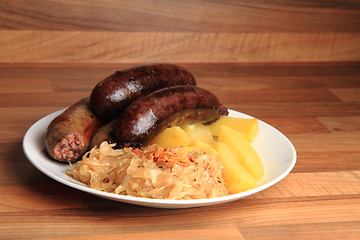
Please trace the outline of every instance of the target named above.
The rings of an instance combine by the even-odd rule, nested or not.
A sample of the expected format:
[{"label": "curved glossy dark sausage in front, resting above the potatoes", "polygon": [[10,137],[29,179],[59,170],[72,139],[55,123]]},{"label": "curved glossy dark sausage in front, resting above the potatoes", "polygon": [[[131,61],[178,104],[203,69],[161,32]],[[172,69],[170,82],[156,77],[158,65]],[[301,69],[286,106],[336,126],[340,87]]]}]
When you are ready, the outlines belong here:
[{"label": "curved glossy dark sausage in front, resting above the potatoes", "polygon": [[226,114],[217,97],[196,86],[160,89],[134,101],[115,125],[116,147],[142,147],[163,129],[210,122]]}]

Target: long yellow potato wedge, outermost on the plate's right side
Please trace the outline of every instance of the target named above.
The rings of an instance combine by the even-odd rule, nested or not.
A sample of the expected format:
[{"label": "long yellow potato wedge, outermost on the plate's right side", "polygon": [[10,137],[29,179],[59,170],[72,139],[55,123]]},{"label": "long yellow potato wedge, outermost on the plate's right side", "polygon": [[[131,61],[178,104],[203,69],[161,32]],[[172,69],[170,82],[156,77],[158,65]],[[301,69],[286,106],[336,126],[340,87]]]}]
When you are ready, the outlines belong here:
[{"label": "long yellow potato wedge, outermost on the plate's right side", "polygon": [[264,177],[264,165],[257,152],[243,134],[224,125],[220,127],[218,141],[226,143],[234,150],[240,164],[255,180],[260,180]]}]

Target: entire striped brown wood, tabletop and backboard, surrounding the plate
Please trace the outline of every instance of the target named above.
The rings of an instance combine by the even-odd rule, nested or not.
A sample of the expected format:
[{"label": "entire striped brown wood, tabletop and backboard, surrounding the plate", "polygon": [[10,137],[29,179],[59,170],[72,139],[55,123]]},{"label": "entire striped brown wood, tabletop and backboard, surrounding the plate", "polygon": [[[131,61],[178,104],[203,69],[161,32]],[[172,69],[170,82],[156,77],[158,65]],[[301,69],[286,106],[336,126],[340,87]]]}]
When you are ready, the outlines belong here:
[{"label": "entire striped brown wood, tabletop and backboard, surrounding the plate", "polygon": [[[360,2],[1,0],[0,239],[360,239]],[[116,70],[179,63],[295,145],[278,184],[155,209],[64,186],[27,160],[40,118]]]}]

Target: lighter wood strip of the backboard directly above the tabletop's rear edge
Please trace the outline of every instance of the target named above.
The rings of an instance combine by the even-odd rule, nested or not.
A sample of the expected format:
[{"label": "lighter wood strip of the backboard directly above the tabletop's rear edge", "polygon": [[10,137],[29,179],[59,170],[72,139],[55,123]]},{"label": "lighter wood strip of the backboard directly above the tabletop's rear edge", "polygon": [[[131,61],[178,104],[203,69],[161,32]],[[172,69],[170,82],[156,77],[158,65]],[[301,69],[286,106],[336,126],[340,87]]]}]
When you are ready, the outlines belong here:
[{"label": "lighter wood strip of the backboard directly above the tabletop's rear edge", "polygon": [[359,61],[357,33],[0,30],[2,63]]}]

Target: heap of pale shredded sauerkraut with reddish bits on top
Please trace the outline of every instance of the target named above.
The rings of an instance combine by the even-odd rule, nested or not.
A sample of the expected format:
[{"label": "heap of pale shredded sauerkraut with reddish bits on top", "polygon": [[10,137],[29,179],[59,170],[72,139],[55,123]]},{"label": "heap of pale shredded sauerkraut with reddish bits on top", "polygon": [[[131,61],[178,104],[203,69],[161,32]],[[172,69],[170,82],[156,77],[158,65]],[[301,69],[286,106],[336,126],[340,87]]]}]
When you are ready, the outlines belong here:
[{"label": "heap of pale shredded sauerkraut with reddish bits on top", "polygon": [[113,149],[103,142],[67,170],[90,188],[156,199],[202,199],[228,194],[221,161],[203,152],[157,145]]}]

